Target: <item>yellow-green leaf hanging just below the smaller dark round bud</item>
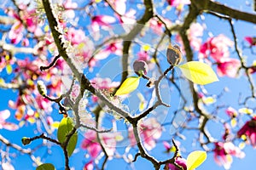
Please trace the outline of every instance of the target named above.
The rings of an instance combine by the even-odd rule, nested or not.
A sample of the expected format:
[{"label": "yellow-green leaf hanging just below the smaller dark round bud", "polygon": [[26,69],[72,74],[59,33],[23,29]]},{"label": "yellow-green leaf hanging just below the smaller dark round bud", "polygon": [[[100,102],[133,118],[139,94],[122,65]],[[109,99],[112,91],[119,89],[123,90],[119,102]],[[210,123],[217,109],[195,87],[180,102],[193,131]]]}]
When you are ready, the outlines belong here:
[{"label": "yellow-green leaf hanging just below the smaller dark round bud", "polygon": [[139,85],[140,77],[128,77],[125,82],[123,82],[120,88],[116,91],[114,95],[130,94]]}]

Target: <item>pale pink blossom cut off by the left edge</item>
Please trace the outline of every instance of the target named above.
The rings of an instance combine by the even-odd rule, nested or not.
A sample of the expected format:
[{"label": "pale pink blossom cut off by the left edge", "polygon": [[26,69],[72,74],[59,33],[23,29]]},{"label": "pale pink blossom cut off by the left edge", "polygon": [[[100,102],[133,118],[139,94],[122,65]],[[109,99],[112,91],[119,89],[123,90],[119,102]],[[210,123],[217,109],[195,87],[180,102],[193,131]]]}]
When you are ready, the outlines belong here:
[{"label": "pale pink blossom cut off by the left edge", "polygon": [[10,116],[9,110],[0,111],[0,129],[17,130],[19,127],[15,123],[5,122]]}]

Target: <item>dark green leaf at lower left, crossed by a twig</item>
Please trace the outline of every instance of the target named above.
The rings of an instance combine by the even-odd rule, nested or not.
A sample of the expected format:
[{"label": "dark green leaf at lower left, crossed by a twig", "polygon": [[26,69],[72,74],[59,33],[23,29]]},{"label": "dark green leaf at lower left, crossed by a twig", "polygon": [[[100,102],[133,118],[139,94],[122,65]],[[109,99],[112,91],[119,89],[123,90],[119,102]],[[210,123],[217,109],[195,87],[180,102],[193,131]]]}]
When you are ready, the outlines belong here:
[{"label": "dark green leaf at lower left, crossed by a twig", "polygon": [[[73,120],[70,117],[63,117],[58,127],[57,137],[59,142],[63,143],[73,129]],[[78,142],[78,133],[74,133],[67,144],[68,156],[73,154],[73,150],[76,148]]]}]

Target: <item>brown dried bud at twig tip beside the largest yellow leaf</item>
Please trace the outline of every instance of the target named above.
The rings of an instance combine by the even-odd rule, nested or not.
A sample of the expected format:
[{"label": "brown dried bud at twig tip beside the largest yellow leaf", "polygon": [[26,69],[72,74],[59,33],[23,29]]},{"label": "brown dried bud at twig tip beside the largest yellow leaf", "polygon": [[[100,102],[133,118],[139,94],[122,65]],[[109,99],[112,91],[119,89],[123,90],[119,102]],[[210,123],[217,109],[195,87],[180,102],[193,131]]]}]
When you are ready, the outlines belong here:
[{"label": "brown dried bud at twig tip beside the largest yellow leaf", "polygon": [[166,56],[167,61],[171,65],[177,65],[182,59],[182,52],[177,45],[172,46],[170,43],[169,47],[167,48]]}]

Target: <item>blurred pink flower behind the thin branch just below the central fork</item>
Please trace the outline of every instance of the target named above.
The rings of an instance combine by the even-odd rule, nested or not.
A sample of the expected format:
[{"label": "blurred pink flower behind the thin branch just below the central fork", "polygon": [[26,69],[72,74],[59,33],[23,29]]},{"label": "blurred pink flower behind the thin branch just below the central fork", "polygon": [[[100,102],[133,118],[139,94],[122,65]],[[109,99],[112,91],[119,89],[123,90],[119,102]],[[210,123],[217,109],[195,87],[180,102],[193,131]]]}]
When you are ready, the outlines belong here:
[{"label": "blurred pink flower behind the thin branch just below the central fork", "polygon": [[[160,139],[161,133],[162,127],[153,117],[148,118],[145,122],[140,124],[140,134],[147,150],[152,150],[155,147],[155,140]],[[132,146],[137,144],[132,127],[129,128],[129,139]]]}]

